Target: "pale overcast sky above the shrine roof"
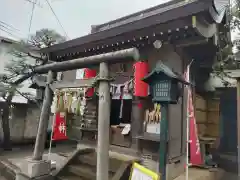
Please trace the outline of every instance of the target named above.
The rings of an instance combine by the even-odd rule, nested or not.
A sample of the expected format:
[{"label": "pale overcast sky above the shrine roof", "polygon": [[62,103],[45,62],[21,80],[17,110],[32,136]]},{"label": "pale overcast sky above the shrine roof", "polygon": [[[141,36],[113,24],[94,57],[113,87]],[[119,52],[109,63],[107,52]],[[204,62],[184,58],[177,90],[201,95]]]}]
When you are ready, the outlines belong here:
[{"label": "pale overcast sky above the shrine roof", "polygon": [[[32,4],[27,0],[0,0],[0,21],[14,26],[14,39],[28,36]],[[35,0],[31,0],[35,1]],[[73,39],[90,32],[91,25],[152,7],[169,0],[49,0],[68,36]],[[54,29],[64,35],[46,0],[35,6],[31,33],[41,28]],[[0,36],[8,34],[0,31]]]}]

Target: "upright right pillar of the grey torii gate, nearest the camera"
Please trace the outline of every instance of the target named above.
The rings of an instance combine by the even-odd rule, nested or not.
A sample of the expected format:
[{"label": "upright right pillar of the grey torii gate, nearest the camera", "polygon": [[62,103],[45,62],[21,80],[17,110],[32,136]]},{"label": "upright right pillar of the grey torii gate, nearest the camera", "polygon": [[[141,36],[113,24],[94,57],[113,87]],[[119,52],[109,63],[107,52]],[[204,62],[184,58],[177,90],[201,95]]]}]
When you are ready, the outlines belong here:
[{"label": "upright right pillar of the grey torii gate, nearest the camera", "polygon": [[97,180],[108,180],[110,85],[108,80],[109,70],[107,63],[100,64],[99,76]]}]

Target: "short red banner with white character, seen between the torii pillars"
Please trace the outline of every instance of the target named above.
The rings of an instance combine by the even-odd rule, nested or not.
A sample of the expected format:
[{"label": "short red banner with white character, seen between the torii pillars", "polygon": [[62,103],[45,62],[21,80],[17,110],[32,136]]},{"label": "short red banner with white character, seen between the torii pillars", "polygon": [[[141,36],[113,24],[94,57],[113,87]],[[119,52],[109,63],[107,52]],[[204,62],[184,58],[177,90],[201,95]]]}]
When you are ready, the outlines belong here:
[{"label": "short red banner with white character, seen between the torii pillars", "polygon": [[56,141],[56,140],[68,139],[65,117],[66,117],[66,114],[63,112],[56,113],[52,140]]}]

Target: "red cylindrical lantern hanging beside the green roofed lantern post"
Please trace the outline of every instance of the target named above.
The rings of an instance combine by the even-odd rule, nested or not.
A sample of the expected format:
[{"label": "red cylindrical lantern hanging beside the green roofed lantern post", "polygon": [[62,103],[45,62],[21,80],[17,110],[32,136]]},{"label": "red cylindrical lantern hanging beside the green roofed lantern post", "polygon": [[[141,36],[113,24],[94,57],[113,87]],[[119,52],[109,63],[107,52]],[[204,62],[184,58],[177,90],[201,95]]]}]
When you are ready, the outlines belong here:
[{"label": "red cylindrical lantern hanging beside the green roofed lantern post", "polygon": [[148,74],[147,62],[136,62],[134,64],[134,96],[146,97],[148,96],[149,85],[142,81]]}]

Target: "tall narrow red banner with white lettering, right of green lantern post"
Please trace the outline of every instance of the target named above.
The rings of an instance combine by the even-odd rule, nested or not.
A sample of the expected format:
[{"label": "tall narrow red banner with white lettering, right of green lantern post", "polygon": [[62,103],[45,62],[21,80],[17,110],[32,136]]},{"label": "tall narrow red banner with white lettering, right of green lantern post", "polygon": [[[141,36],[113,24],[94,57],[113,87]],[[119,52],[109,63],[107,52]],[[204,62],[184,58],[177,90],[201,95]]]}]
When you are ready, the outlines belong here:
[{"label": "tall narrow red banner with white lettering, right of green lantern post", "polygon": [[[185,74],[186,81],[189,82],[189,67],[187,68],[187,72]],[[188,88],[188,123],[189,123],[189,143],[190,143],[190,164],[191,165],[202,165],[202,155],[200,151],[200,144],[198,139],[197,133],[197,125],[196,125],[196,118],[193,108],[192,102],[192,90],[191,87]]]}]

